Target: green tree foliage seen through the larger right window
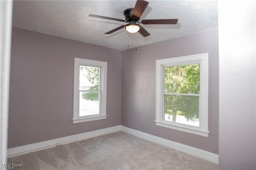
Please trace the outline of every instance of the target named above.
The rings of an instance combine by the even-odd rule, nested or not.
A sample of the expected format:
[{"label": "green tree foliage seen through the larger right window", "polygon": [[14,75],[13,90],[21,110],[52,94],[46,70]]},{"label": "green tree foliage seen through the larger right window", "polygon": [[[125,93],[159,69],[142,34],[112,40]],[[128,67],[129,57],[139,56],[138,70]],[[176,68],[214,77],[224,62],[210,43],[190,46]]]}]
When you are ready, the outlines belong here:
[{"label": "green tree foliage seen through the larger right window", "polygon": [[200,64],[164,67],[164,114],[199,119]]}]

